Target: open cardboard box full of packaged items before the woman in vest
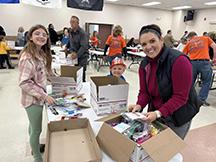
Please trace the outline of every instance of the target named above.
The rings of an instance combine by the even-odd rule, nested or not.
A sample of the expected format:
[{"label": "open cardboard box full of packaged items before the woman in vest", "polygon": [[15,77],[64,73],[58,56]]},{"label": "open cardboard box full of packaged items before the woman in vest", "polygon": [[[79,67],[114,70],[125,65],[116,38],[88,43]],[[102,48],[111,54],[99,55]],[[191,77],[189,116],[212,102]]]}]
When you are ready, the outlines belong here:
[{"label": "open cardboard box full of packaged items before the woman in vest", "polygon": [[[101,149],[115,161],[128,162],[129,160],[140,158],[142,160],[143,157],[154,162],[167,162],[185,147],[185,143],[166,126],[158,135],[138,145],[108,124],[118,122],[121,118],[121,115],[112,115],[101,119],[100,121],[104,121],[104,123],[97,135],[97,141]],[[144,153],[136,153],[136,149],[138,151],[143,149]],[[133,155],[133,152],[141,155]],[[135,161],[138,162],[137,160]]]}]

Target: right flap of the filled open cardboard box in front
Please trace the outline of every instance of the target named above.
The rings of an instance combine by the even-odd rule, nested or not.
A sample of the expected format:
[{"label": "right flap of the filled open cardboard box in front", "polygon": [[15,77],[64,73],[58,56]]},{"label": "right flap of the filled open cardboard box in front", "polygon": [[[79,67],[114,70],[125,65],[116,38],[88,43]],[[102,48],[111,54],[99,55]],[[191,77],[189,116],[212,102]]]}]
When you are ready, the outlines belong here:
[{"label": "right flap of the filled open cardboard box in front", "polygon": [[167,162],[185,147],[185,143],[170,128],[167,128],[141,146],[155,162]]}]

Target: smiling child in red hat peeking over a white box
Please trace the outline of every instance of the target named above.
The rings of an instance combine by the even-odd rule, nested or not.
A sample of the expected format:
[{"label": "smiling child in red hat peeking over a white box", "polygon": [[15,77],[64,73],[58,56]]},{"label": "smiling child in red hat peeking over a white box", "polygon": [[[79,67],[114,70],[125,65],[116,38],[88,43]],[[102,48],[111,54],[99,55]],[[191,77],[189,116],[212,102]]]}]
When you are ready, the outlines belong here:
[{"label": "smiling child in red hat peeking over a white box", "polygon": [[116,57],[110,65],[110,74],[108,76],[116,76],[125,81],[124,76],[122,75],[126,69],[126,65],[123,62],[123,59]]}]

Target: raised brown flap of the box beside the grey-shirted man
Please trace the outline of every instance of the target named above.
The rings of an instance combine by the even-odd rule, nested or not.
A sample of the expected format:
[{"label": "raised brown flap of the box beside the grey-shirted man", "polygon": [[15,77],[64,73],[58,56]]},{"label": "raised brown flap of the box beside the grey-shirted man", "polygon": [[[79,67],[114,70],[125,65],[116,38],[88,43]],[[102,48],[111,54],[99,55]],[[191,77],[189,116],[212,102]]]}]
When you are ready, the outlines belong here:
[{"label": "raised brown flap of the box beside the grey-shirted man", "polygon": [[70,65],[61,65],[61,76],[63,77],[73,77],[76,81],[77,71],[81,67],[79,66],[70,66]]}]

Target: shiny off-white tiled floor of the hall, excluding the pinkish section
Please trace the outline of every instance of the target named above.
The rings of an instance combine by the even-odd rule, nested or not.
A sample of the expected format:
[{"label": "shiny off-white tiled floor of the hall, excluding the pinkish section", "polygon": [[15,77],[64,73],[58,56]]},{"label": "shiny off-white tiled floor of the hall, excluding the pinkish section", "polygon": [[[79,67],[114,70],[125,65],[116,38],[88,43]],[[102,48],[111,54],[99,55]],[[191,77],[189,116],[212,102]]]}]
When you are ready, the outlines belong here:
[{"label": "shiny off-white tiled floor of the hall, excluding the pinkish section", "polygon": [[[127,64],[129,62],[127,61]],[[136,102],[138,93],[138,65],[133,65],[127,69],[125,77],[130,84],[129,103]],[[107,75],[108,67],[102,67],[99,72],[95,69],[95,64],[90,63],[87,76]],[[212,106],[201,107],[200,113],[192,122],[193,128],[198,128],[216,122],[216,90],[209,96],[209,102]],[[0,70],[0,162],[33,162],[29,153],[26,153],[26,143],[28,142],[28,120],[26,112],[20,105],[20,89],[18,87],[18,70]],[[44,116],[44,125],[46,117]],[[42,137],[45,137],[43,128]],[[193,138],[191,138],[193,140]],[[211,139],[209,139],[211,140]],[[215,146],[216,147],[216,146]],[[205,154],[203,155],[205,156]],[[190,161],[193,162],[193,161]],[[197,161],[196,162],[202,162]]]}]

